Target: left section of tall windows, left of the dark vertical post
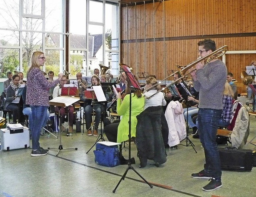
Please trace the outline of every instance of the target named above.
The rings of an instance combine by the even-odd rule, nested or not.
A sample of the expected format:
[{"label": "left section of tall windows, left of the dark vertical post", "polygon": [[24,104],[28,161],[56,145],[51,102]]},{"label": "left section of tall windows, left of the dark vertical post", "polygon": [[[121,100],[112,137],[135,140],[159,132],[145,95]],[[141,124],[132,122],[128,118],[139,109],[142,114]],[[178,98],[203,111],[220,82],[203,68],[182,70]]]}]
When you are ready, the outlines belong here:
[{"label": "left section of tall windows, left of the dark vertical post", "polygon": [[[46,53],[47,49],[57,48],[58,71],[62,71],[64,59],[63,47],[63,2],[64,0],[1,0],[0,1],[0,59],[12,57],[16,64],[15,70],[22,71],[26,77],[26,71],[30,66],[30,58],[34,51],[40,50]],[[20,6],[21,4],[21,6]],[[47,8],[46,8],[47,6]],[[20,10],[21,9],[21,10]],[[4,28],[6,28],[4,30]],[[53,32],[58,35],[58,40],[46,33]],[[56,38],[56,37],[54,37]],[[8,48],[9,50],[6,50]],[[49,56],[50,55],[50,56]],[[53,57],[51,57],[51,55]],[[46,54],[47,61],[56,58],[55,53]],[[52,62],[45,63],[51,65]],[[6,65],[7,71],[14,71],[12,65]],[[2,70],[1,70],[2,71]],[[1,76],[5,77],[5,70]]]}]

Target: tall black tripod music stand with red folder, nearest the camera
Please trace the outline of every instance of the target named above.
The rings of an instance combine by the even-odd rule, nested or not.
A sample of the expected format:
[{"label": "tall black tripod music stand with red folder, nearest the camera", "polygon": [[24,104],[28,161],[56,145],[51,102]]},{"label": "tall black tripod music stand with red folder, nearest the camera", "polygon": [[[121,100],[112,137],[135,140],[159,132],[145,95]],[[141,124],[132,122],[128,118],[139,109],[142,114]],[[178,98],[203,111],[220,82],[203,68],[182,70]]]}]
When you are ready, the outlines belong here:
[{"label": "tall black tripod music stand with red folder, nearest the camera", "polygon": [[[126,80],[129,80],[132,83],[132,88],[134,89],[140,89],[140,85],[137,83],[136,79],[134,78],[133,74],[131,73],[129,67],[127,65],[120,65],[122,67],[122,69],[124,70],[125,74],[126,74]],[[127,83],[128,84],[128,83]],[[139,175],[140,178],[142,178],[145,183],[147,183],[150,188],[152,188],[153,186],[146,180],[144,179],[144,177],[142,177],[142,175],[140,175],[135,169],[134,167],[132,167],[131,164],[131,111],[132,111],[132,90],[130,91],[130,106],[129,106],[129,162],[128,162],[128,167],[126,169],[126,171],[124,172],[124,174],[122,175],[120,181],[117,183],[115,189],[113,190],[113,193],[116,192],[116,189],[118,187],[118,185],[121,183],[122,180],[124,180],[124,178],[126,177],[126,174],[128,172],[129,169],[132,169],[137,175]]]}]

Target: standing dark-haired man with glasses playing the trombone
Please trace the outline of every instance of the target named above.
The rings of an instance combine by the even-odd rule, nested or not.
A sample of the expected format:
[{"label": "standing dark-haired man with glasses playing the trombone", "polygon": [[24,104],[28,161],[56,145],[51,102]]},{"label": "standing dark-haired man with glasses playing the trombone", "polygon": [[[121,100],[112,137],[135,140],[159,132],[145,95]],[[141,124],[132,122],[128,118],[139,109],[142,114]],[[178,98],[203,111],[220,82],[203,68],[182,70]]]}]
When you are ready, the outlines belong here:
[{"label": "standing dark-haired man with glasses playing the trombone", "polygon": [[202,188],[204,191],[213,191],[222,187],[222,171],[216,143],[216,133],[218,121],[222,113],[222,97],[226,83],[227,68],[218,59],[226,51],[223,54],[217,55],[219,50],[216,51],[215,42],[211,39],[199,41],[198,55],[201,57],[200,59],[204,61],[208,57],[210,59],[206,61],[208,62],[207,64],[202,63],[202,61],[198,62],[196,64],[196,71],[191,73],[194,89],[199,92],[198,132],[206,160],[204,169],[199,173],[192,173],[191,176],[193,178],[211,179],[210,183]]}]

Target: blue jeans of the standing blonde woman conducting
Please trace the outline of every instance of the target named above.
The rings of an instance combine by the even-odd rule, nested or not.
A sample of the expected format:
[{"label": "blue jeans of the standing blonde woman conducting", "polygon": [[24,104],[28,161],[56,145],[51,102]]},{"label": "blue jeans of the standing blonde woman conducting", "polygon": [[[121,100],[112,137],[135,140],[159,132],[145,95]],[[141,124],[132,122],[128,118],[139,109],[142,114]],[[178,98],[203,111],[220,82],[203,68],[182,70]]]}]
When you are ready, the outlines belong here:
[{"label": "blue jeans of the standing blonde woman conducting", "polygon": [[31,114],[32,115],[32,119],[31,119],[32,120],[31,121],[32,149],[37,150],[40,146],[39,144],[40,132],[47,116],[48,106],[30,105],[30,107],[32,112]]}]

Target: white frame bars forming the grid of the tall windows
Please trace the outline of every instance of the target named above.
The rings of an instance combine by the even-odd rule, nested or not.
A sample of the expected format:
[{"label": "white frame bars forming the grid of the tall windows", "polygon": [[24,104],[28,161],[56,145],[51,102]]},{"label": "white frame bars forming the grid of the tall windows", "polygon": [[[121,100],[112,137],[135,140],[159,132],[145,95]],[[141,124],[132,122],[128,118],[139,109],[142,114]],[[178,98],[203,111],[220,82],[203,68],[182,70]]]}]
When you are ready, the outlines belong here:
[{"label": "white frame bars forming the grid of the tall windows", "polygon": [[[70,34],[72,34],[72,32],[70,33],[70,31],[67,31],[67,29],[65,29],[67,26],[69,27],[69,21],[66,22],[66,6],[69,5],[70,6],[70,0],[61,0],[62,1],[62,13],[63,13],[63,21],[62,21],[62,31],[60,32],[47,32],[46,30],[46,1],[47,0],[41,0],[42,2],[42,13],[41,15],[39,14],[26,14],[24,12],[24,0],[19,0],[19,27],[18,28],[3,28],[0,26],[0,31],[4,30],[4,31],[9,31],[9,32],[18,32],[18,37],[19,37],[19,41],[18,44],[16,45],[0,45],[0,49],[18,49],[19,50],[19,66],[16,70],[23,72],[24,71],[24,63],[23,63],[23,57],[22,57],[22,49],[24,47],[23,44],[23,40],[22,40],[22,33],[24,32],[33,32],[33,33],[40,33],[42,35],[42,47],[40,47],[40,50],[42,52],[45,53],[45,51],[50,51],[50,50],[55,50],[55,51],[60,51],[60,72],[63,72],[64,69],[66,68],[66,65],[70,65],[70,53],[68,55],[68,58],[66,58],[66,51],[72,51],[72,50],[76,50],[76,51],[84,51],[84,53],[86,53],[86,68],[84,69],[84,73],[86,74],[86,76],[88,76],[90,73],[88,71],[88,67],[89,67],[89,58],[88,58],[88,52],[89,52],[89,46],[88,46],[88,26],[89,25],[100,25],[102,26],[103,32],[102,32],[102,37],[103,37],[103,43],[106,40],[106,36],[105,36],[105,8],[106,8],[106,4],[115,4],[116,8],[117,8],[117,15],[116,15],[116,20],[118,21],[117,24],[117,35],[118,35],[118,49],[112,50],[112,49],[106,49],[105,44],[103,44],[103,51],[102,51],[102,57],[103,57],[103,61],[102,64],[105,65],[106,64],[106,53],[110,52],[110,53],[116,53],[118,54],[118,61],[119,61],[119,56],[120,56],[120,26],[119,26],[119,21],[120,21],[120,4],[118,3],[117,0],[113,0],[113,2],[108,1],[106,2],[106,0],[103,1],[98,1],[98,2],[102,2],[103,6],[102,6],[102,22],[93,22],[89,20],[89,2],[90,0],[86,0],[86,23],[84,24],[86,26],[86,49],[84,48],[76,48],[73,49],[72,47],[70,47]],[[70,10],[70,7],[69,7]],[[95,12],[95,10],[93,10],[92,12]],[[70,13],[69,13],[70,14]],[[24,18],[32,18],[32,19],[37,19],[37,20],[42,20],[42,30],[40,29],[40,31],[36,31],[36,30],[28,30],[28,29],[24,29],[22,28],[22,20]],[[69,17],[70,18],[70,15]],[[18,23],[17,23],[18,24]],[[46,46],[46,35],[47,34],[58,34],[60,36],[60,42],[63,42],[62,45],[60,45],[60,47],[51,47],[51,46]],[[41,36],[40,35],[40,36]],[[66,39],[68,37],[68,43],[66,44]],[[33,52],[33,51],[32,51]],[[88,66],[87,66],[88,65]],[[108,66],[108,64],[107,64]],[[45,71],[45,67],[43,67],[43,70]],[[71,68],[69,68],[70,71]],[[118,69],[118,68],[115,68]],[[26,75],[24,73],[24,75]],[[56,76],[56,75],[55,75]]]}]

